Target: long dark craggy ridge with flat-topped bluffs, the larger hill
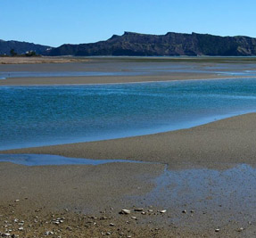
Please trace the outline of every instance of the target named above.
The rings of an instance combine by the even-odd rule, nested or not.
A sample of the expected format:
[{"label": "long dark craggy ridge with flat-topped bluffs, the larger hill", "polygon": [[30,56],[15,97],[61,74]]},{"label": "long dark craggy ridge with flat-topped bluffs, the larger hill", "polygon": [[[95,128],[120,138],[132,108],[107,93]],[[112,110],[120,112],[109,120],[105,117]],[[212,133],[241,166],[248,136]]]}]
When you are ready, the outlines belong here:
[{"label": "long dark craggy ridge with flat-topped bluffs, the larger hill", "polygon": [[125,32],[92,44],[61,45],[49,55],[256,55],[256,38],[218,37],[208,34],[146,35]]}]

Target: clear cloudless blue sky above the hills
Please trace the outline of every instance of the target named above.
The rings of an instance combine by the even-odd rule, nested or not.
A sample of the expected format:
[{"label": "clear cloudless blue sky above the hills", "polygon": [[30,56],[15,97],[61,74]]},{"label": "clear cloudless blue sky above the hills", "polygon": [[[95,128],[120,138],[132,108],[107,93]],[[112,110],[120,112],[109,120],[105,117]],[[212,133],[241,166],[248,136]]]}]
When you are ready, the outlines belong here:
[{"label": "clear cloudless blue sky above the hills", "polygon": [[124,31],[256,37],[255,0],[0,0],[0,39],[43,45]]}]

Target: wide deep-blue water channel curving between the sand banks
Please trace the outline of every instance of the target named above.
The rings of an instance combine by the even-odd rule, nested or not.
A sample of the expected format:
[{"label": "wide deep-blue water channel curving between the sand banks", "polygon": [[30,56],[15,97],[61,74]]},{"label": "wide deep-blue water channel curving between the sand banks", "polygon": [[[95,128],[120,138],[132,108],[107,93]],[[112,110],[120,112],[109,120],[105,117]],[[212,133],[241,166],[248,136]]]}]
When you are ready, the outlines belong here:
[{"label": "wide deep-blue water channel curving between the sand banks", "polygon": [[1,86],[0,150],[193,127],[256,111],[256,79]]}]

